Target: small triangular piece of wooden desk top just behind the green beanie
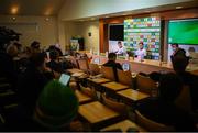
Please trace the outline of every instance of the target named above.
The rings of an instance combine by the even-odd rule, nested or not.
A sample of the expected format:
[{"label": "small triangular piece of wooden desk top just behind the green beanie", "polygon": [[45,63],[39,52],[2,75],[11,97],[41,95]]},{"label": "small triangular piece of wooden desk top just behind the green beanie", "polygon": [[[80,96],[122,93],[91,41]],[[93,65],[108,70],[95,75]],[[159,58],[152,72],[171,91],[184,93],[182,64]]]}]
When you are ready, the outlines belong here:
[{"label": "small triangular piece of wooden desk top just behind the green beanie", "polygon": [[80,104],[92,101],[92,99],[89,96],[86,96],[85,93],[80,92],[79,90],[76,90],[75,93],[76,93],[76,97],[78,98],[78,101]]}]

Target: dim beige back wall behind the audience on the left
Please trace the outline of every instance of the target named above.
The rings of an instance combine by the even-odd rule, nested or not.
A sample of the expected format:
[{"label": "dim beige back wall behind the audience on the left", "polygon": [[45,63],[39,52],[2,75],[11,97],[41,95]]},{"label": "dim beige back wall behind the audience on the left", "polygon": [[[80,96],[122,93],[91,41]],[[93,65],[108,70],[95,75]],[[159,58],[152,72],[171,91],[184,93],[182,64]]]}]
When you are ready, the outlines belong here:
[{"label": "dim beige back wall behind the audience on the left", "polygon": [[22,33],[20,43],[30,46],[34,40],[41,42],[42,46],[48,46],[58,42],[57,19],[54,16],[15,16],[15,21],[11,15],[0,15],[0,26],[13,29],[15,32]]}]

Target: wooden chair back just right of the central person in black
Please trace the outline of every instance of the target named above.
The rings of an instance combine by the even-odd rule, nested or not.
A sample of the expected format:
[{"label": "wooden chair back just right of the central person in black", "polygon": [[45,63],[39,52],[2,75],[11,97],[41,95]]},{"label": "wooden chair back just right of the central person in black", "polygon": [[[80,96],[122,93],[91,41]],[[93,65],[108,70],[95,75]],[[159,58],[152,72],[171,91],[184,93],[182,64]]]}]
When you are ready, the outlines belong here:
[{"label": "wooden chair back just right of the central person in black", "polygon": [[120,69],[117,69],[118,73],[118,79],[120,84],[127,85],[132,87],[132,75],[131,71],[123,71]]}]

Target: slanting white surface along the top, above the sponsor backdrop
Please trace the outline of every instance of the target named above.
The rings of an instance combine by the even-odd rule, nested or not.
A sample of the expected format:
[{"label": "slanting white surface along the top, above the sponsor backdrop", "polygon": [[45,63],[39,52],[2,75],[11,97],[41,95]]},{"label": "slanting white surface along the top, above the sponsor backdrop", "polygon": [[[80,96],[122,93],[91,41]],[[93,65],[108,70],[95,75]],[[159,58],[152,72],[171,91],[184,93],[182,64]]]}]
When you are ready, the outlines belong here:
[{"label": "slanting white surface along the top, above the sponsor backdrop", "polygon": [[66,21],[187,1],[193,0],[68,0],[58,18]]}]

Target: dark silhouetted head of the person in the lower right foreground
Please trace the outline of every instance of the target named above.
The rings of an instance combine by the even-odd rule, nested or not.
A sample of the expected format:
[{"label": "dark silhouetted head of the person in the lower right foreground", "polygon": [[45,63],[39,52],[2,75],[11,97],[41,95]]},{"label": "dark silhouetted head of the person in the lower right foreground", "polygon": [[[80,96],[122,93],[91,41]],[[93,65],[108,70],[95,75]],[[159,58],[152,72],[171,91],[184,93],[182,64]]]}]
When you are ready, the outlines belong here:
[{"label": "dark silhouetted head of the person in the lower right foreground", "polygon": [[160,80],[160,99],[165,102],[174,102],[178,97],[183,88],[183,82],[178,75],[174,73],[168,73],[162,75]]}]

